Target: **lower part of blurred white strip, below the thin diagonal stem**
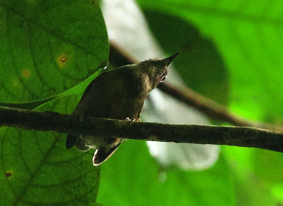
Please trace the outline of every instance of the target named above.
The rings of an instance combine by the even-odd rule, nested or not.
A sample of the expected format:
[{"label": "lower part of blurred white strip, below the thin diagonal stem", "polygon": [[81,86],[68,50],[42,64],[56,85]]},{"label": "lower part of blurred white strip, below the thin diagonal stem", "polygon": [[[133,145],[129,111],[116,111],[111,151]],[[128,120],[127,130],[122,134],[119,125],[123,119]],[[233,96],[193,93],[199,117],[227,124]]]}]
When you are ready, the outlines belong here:
[{"label": "lower part of blurred white strip, below the thin diagonal stem", "polygon": [[[146,101],[143,108],[143,121],[150,120],[152,122],[174,124],[209,124],[203,114],[176,99],[168,97],[160,90],[153,90],[151,93],[150,101]],[[217,161],[219,155],[218,145],[147,141],[147,146],[150,154],[162,166],[179,166],[184,170],[200,171],[208,169]]]}]

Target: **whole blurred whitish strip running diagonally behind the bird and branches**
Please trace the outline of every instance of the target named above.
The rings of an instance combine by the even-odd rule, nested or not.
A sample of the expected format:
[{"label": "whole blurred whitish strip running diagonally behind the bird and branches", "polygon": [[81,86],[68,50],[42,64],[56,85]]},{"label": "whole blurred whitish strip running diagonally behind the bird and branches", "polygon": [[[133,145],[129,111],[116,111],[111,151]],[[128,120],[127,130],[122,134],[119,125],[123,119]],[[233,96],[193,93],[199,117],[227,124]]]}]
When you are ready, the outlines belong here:
[{"label": "whole blurred whitish strip running diagonally behind the bird and branches", "polygon": [[[139,62],[151,58],[167,57],[152,36],[143,13],[134,1],[104,0],[102,1],[102,12],[110,42],[131,59]],[[182,56],[179,55],[178,58]],[[172,69],[169,70],[166,81],[174,85],[183,84]],[[153,90],[149,95],[149,100],[145,102],[142,120],[175,124],[210,124],[200,112],[168,97],[158,89]],[[184,170],[207,169],[217,161],[219,154],[217,145],[151,141],[148,141],[147,145],[150,154],[161,166],[176,165]],[[165,180],[166,173],[160,173],[159,181]]]}]

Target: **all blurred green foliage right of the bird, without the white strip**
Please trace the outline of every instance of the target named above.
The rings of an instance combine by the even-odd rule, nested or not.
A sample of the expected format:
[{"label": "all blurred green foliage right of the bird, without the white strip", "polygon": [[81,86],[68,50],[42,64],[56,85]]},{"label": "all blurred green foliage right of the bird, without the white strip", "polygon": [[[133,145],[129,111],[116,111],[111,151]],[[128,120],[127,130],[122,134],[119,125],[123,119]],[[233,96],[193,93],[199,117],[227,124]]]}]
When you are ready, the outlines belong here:
[{"label": "all blurred green foliage right of the bird, without the white strip", "polygon": [[[244,118],[282,124],[282,5],[276,1],[138,3],[162,48],[168,54],[181,51],[174,68],[190,88]],[[106,205],[283,202],[281,153],[224,146],[218,162],[200,172],[159,168],[145,144],[134,140],[121,145],[117,153],[102,165],[97,201]],[[162,182],[160,176],[166,180]]]}]

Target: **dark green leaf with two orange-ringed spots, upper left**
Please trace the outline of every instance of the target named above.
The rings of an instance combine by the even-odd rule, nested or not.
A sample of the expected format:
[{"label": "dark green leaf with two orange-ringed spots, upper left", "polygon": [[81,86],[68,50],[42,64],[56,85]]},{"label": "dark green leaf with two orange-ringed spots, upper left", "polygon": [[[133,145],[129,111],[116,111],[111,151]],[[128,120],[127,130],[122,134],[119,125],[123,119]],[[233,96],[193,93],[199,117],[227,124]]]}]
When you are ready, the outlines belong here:
[{"label": "dark green leaf with two orange-ringed spots, upper left", "polygon": [[108,62],[97,1],[0,1],[0,101],[60,94]]}]

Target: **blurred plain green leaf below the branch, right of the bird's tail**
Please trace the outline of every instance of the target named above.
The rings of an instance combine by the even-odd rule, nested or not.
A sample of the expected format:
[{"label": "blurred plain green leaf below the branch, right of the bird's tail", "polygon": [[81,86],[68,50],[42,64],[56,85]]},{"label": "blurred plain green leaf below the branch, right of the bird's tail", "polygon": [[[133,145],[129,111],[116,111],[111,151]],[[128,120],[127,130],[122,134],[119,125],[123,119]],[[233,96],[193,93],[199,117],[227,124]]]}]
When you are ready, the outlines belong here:
[{"label": "blurred plain green leaf below the branch, right of the bird's tail", "polygon": [[236,205],[234,185],[222,155],[205,171],[176,167],[164,171],[145,142],[128,140],[101,167],[97,202],[103,205]]}]

